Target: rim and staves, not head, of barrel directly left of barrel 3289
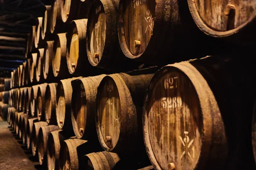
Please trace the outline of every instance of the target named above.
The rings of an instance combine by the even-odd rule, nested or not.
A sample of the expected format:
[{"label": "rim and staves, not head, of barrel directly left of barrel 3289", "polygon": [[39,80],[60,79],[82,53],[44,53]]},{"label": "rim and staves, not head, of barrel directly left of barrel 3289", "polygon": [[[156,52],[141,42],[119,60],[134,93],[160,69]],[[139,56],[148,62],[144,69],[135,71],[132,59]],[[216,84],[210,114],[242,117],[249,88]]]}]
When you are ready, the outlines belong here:
[{"label": "rim and staves, not head, of barrel directly left of barrel 3289", "polygon": [[[135,120],[135,117],[140,116],[140,114],[142,113],[143,103],[140,103],[140,102],[143,101],[143,97],[144,97],[147,85],[151,77],[153,77],[153,74],[151,73],[155,71],[156,71],[155,68],[144,69],[142,71],[134,71],[134,72],[131,71],[131,72],[122,73],[122,74],[112,74],[102,79],[102,82],[99,85],[97,96],[96,96],[95,119],[96,119],[96,129],[97,129],[98,139],[104,150],[118,153],[120,155],[124,153],[126,155],[129,155],[129,154],[132,154],[133,152],[136,152],[136,155],[140,155],[140,154],[145,155],[144,149],[136,150],[136,151],[133,149],[135,145],[138,146],[137,148],[141,148],[139,146],[143,146],[143,139],[140,139],[140,136],[142,136],[142,132],[140,132],[142,125],[140,125],[140,122],[136,123],[137,121]],[[146,77],[144,77],[143,79],[142,77],[140,77],[140,74],[142,73],[146,74]],[[105,81],[108,81],[109,78],[113,79],[113,81],[117,85],[117,89],[120,89],[118,91],[119,91],[119,98],[120,98],[120,104],[122,109],[121,112],[127,113],[127,111],[125,111],[125,107],[122,107],[126,105],[129,105],[129,107],[133,108],[133,111],[135,111],[134,115],[131,115],[131,116],[127,116],[121,113],[120,121],[122,123],[120,123],[120,127],[129,126],[129,127],[133,127],[133,129],[128,129],[126,127],[123,128],[122,130],[120,129],[119,139],[122,139],[122,142],[117,142],[115,147],[112,147],[112,148],[108,147],[108,145],[105,143],[104,137],[102,136],[101,127],[99,123],[99,108],[98,108],[102,87],[105,84]],[[136,82],[135,79],[140,79],[142,80],[142,82]],[[132,85],[130,83],[134,83],[134,84]],[[140,87],[137,85],[139,85]],[[136,89],[136,86],[139,87],[139,89]],[[131,91],[131,93],[129,92],[128,89]],[[131,96],[131,99],[134,100],[134,103],[135,103],[134,105],[131,103],[131,100],[128,101],[128,98],[126,99],[127,96]],[[139,100],[138,98],[140,98],[141,100]],[[133,137],[128,135],[131,133],[133,134],[133,137],[134,136],[137,136],[137,137],[134,137],[134,139],[132,139]],[[124,145],[126,146],[125,148],[122,147]]]}]

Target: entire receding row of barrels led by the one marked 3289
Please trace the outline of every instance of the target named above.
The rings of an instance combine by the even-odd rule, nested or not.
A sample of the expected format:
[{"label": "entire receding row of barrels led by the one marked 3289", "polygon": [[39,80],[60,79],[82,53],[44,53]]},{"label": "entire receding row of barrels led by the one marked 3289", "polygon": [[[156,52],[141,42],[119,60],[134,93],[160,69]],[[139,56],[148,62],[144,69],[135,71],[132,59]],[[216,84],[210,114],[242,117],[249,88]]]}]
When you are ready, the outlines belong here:
[{"label": "entire receding row of barrels led by the one marked 3289", "polygon": [[17,111],[128,165],[149,159],[157,170],[254,169],[256,77],[243,51],[235,54],[5,93]]}]

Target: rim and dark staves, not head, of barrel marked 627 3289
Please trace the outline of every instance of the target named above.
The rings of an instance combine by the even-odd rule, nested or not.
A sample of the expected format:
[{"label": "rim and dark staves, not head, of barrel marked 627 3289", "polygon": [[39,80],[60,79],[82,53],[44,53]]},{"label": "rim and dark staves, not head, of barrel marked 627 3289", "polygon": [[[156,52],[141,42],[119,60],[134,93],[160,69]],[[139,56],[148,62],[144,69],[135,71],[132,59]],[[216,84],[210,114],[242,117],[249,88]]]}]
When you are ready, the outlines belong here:
[{"label": "rim and dark staves, not head, of barrel marked 627 3289", "polygon": [[[225,56],[221,56],[221,57],[219,57],[219,60],[221,61],[221,58],[224,60],[224,57]],[[205,58],[207,58],[207,57],[205,57]],[[203,58],[202,59],[198,59],[198,60],[191,60],[191,64],[189,63],[189,62],[180,62],[180,63],[175,63],[175,64],[173,64],[173,65],[167,65],[167,66],[165,66],[164,68],[162,68],[162,71],[159,71],[159,72],[157,72],[156,74],[155,74],[155,76],[152,78],[152,80],[151,80],[151,82],[156,82],[157,80],[156,79],[154,79],[155,77],[160,77],[160,75],[161,74],[163,74],[166,70],[168,70],[168,67],[169,68],[172,68],[172,67],[175,67],[175,68],[177,68],[178,70],[181,70],[181,71],[183,71],[184,70],[184,68],[185,67],[187,67],[187,68],[189,68],[189,69],[186,69],[186,74],[188,75],[189,74],[189,77],[204,77],[203,79],[206,79],[207,80],[207,84],[206,85],[209,85],[209,87],[211,88],[211,90],[212,91],[214,91],[213,92],[213,94],[214,94],[214,96],[213,96],[213,98],[214,99],[209,99],[209,101],[213,101],[213,103],[215,102],[216,103],[216,101],[218,102],[217,104],[217,107],[215,107],[215,108],[218,108],[220,111],[225,111],[225,109],[224,109],[224,107],[226,107],[225,106],[225,104],[224,104],[224,101],[221,101],[221,99],[223,99],[223,98],[221,98],[221,95],[223,95],[223,94],[225,94],[226,93],[226,91],[224,91],[224,90],[222,90],[221,88],[223,88],[223,86],[224,86],[224,84],[225,83],[227,83],[227,82],[229,82],[230,80],[231,80],[231,78],[230,77],[227,77],[227,74],[224,72],[224,70],[221,70],[221,71],[215,71],[215,69],[218,69],[218,66],[217,67],[215,67],[214,66],[214,64],[213,63],[215,63],[216,61],[218,61],[218,57],[217,57],[217,59],[216,59],[216,61],[215,61],[215,59],[213,58],[213,57],[209,57],[208,58],[209,59],[209,63],[207,63],[207,62],[204,62],[204,60],[203,60]],[[210,59],[212,59],[212,63],[211,63],[211,60]],[[227,62],[228,60],[224,60],[224,62]],[[240,62],[240,63],[239,63]],[[233,64],[238,64],[238,65],[240,65],[241,64],[241,60],[236,60],[236,61],[234,61],[233,62]],[[208,64],[208,65],[207,65]],[[221,64],[223,64],[223,63],[221,63]],[[220,64],[220,65],[221,65]],[[193,66],[191,66],[191,65],[193,65]],[[209,68],[209,72],[207,72],[207,69],[205,69],[205,67],[209,67],[209,65],[212,65],[212,68]],[[223,66],[223,65],[221,65],[221,66]],[[227,65],[227,66],[229,66],[230,67],[230,65]],[[193,67],[195,67],[195,68],[193,68]],[[233,68],[232,68],[233,67]],[[232,66],[231,65],[231,68],[233,69],[233,70],[236,70],[236,68],[234,68],[235,66]],[[197,75],[197,74],[195,74],[195,71],[192,71],[193,69],[196,71],[196,72],[198,72],[199,73],[199,75]],[[212,71],[212,72],[210,72],[210,71]],[[233,74],[233,72],[232,71],[230,71],[229,69],[226,69],[225,71],[229,71],[228,72],[228,74]],[[210,74],[209,74],[210,73]],[[221,82],[221,81],[219,81],[219,82],[221,82],[222,84],[221,85],[216,85],[216,79],[215,79],[215,77],[212,77],[212,76],[216,76],[216,75],[221,75],[222,76],[222,74],[223,73],[225,73],[225,76],[223,76],[223,77],[221,77],[221,78],[219,78],[219,79],[217,79],[217,80],[222,80],[222,81],[224,81],[224,82]],[[200,75],[200,74],[202,74],[202,75]],[[236,73],[237,74],[237,73]],[[193,79],[195,79],[195,78],[193,78]],[[226,80],[227,79],[227,80]],[[204,82],[206,82],[206,80],[204,80]],[[233,79],[234,80],[234,79]],[[194,85],[198,85],[198,86],[200,86],[199,84],[199,81],[197,80],[197,81],[195,81],[195,80],[192,80],[192,81],[194,81],[193,82],[193,84]],[[230,81],[230,82],[232,82],[232,81]],[[223,86],[222,86],[223,85]],[[217,86],[217,87],[216,87]],[[249,85],[250,86],[250,85]],[[148,91],[151,89],[151,87],[152,87],[152,85],[149,85],[149,89],[148,89]],[[208,88],[209,88],[208,87]],[[202,86],[200,86],[200,88],[199,88],[201,91],[203,91],[202,89],[205,89],[204,87],[202,87]],[[219,90],[219,89],[221,89],[221,90]],[[249,89],[252,89],[252,88],[249,88]],[[226,89],[227,90],[227,89]],[[198,90],[199,91],[199,90]],[[217,91],[217,93],[215,93]],[[199,92],[198,92],[199,93]],[[207,93],[209,93],[209,91],[208,92],[200,92],[201,93],[201,95],[207,95]],[[212,92],[211,92],[212,93]],[[229,96],[229,95],[227,95],[227,96]],[[207,102],[206,100],[205,100],[205,98],[207,98],[207,97],[204,97],[204,98],[202,98],[202,101],[201,102]],[[216,100],[215,100],[216,99]],[[146,94],[146,96],[145,96],[145,102],[148,100],[148,94]],[[227,101],[226,101],[227,102]],[[226,104],[228,104],[229,105],[229,103],[226,103]],[[215,104],[216,105],[216,104]],[[144,109],[146,108],[147,106],[144,104]],[[204,111],[207,111],[207,104],[206,105],[204,105]],[[209,106],[208,105],[208,107],[211,107],[211,106]],[[214,107],[213,107],[214,108]],[[218,110],[217,109],[217,110]],[[228,109],[228,108],[227,108]],[[209,112],[209,111],[208,111]],[[219,113],[221,113],[221,112],[219,112]],[[206,114],[207,114],[207,112],[206,112]],[[215,114],[216,115],[216,114]],[[222,114],[221,116],[223,116],[224,114]],[[230,114],[229,116],[231,117],[231,115],[233,115],[233,113],[232,114]],[[214,115],[212,115],[212,116],[214,116]],[[220,116],[218,115],[218,117],[220,118]],[[225,118],[226,117],[226,118]],[[250,117],[250,116],[249,116]],[[204,116],[204,118],[205,119],[212,119],[211,118],[211,116],[207,116],[207,115],[205,115]],[[226,119],[226,120],[225,120]],[[230,120],[231,122],[232,121],[234,121],[234,120],[236,120],[237,118],[235,118],[235,119],[233,119],[233,120]],[[246,119],[248,119],[248,118],[246,118]],[[223,122],[222,122],[222,120],[224,120],[224,124],[223,124]],[[212,122],[212,128],[215,128],[215,130],[214,129],[210,129],[209,127],[204,127],[204,131],[207,131],[209,134],[206,134],[205,136],[204,136],[204,139],[207,141],[207,142],[209,142],[209,140],[207,139],[207,138],[209,138],[209,137],[211,137],[212,136],[212,138],[214,138],[214,136],[215,136],[215,142],[212,142],[212,143],[216,143],[217,144],[217,146],[215,145],[215,146],[210,146],[210,149],[209,149],[209,146],[202,146],[201,148],[202,148],[202,152],[204,152],[204,154],[203,155],[200,155],[200,160],[202,160],[201,162],[199,162],[197,165],[196,165],[196,168],[198,168],[198,169],[201,169],[201,168],[210,168],[210,169],[214,169],[214,168],[216,168],[217,166],[218,166],[218,168],[220,168],[220,167],[223,167],[223,168],[231,168],[231,169],[233,169],[233,168],[235,168],[235,166],[237,167],[237,166],[239,166],[239,165],[235,165],[234,164],[234,160],[236,160],[236,159],[238,159],[238,158],[236,158],[236,156],[237,156],[237,154],[231,154],[231,155],[233,155],[233,156],[230,156],[230,154],[229,154],[229,156],[228,157],[230,157],[230,159],[234,159],[233,160],[233,163],[231,163],[231,161],[227,161],[226,159],[227,159],[227,142],[218,142],[217,140],[221,140],[220,138],[220,136],[221,136],[221,133],[222,133],[222,138],[226,138],[226,136],[230,136],[230,132],[224,132],[224,125],[225,124],[227,124],[227,115],[224,115],[224,117],[223,117],[223,119],[221,120],[221,118],[219,119],[219,120],[214,120],[213,122],[214,122],[214,124],[213,124],[213,122]],[[161,167],[159,166],[159,164],[158,164],[158,162],[157,162],[157,160],[155,159],[155,157],[154,157],[154,155],[152,154],[152,149],[151,149],[151,146],[150,146],[150,143],[149,143],[149,137],[148,137],[148,134],[146,134],[147,133],[147,130],[145,130],[145,129],[148,129],[148,125],[147,125],[147,117],[146,117],[146,115],[145,115],[145,110],[143,111],[143,134],[144,134],[144,140],[145,140],[145,145],[146,145],[146,149],[147,149],[147,152],[148,152],[148,157],[149,157],[149,159],[151,160],[151,163],[154,165],[154,168],[155,169],[161,169]],[[239,120],[236,120],[236,121],[239,121]],[[239,121],[240,122],[240,121]],[[248,122],[248,120],[247,120],[247,122]],[[208,124],[205,124],[205,125],[209,125],[210,123],[208,123]],[[221,125],[222,124],[222,125]],[[249,123],[250,124],[250,123]],[[219,125],[219,127],[218,127],[218,125]],[[229,125],[225,125],[225,126],[229,126]],[[243,127],[244,127],[244,125],[242,125]],[[223,127],[223,128],[221,128],[221,127]],[[227,127],[225,127],[225,129],[226,129]],[[230,127],[229,127],[230,128]],[[209,130],[209,131],[208,131]],[[232,130],[230,130],[230,131],[232,131]],[[236,131],[237,133],[240,133],[240,135],[241,135],[241,130],[238,130],[238,129],[236,129],[236,130],[233,130],[233,131]],[[240,132],[239,132],[240,131]],[[226,133],[226,134],[224,134],[224,133]],[[233,132],[234,133],[234,132]],[[247,137],[248,138],[248,137]],[[228,139],[228,138],[227,138]],[[231,140],[231,139],[230,139]],[[205,145],[207,145],[207,142],[204,142],[204,144]],[[245,142],[245,140],[243,141],[243,142]],[[203,142],[202,142],[203,143]],[[218,145],[222,145],[222,146],[218,146]],[[229,143],[229,145],[230,145],[230,143]],[[232,144],[231,144],[232,145]],[[241,145],[241,144],[240,144]],[[207,148],[208,147],[208,148]],[[234,146],[233,146],[234,147]],[[208,150],[210,150],[210,151],[212,151],[212,153],[209,153],[208,152]],[[231,149],[232,150],[232,149]],[[235,151],[236,152],[236,151]],[[239,152],[239,151],[237,151],[237,152]],[[241,152],[241,148],[240,148],[240,152]],[[216,153],[218,153],[218,154],[216,154]],[[221,153],[221,154],[220,154]],[[217,156],[218,155],[218,156]],[[243,154],[244,155],[244,154]],[[210,158],[209,159],[207,159],[207,156],[210,156]],[[215,158],[214,158],[214,156],[215,156]],[[225,157],[226,156],[226,157]],[[231,158],[232,157],[232,158]],[[249,156],[250,157],[250,156]],[[208,161],[207,161],[208,160]],[[242,159],[240,158],[239,160],[241,160],[242,161]],[[224,162],[226,161],[226,164],[224,164]],[[243,160],[243,161],[245,161],[245,159]],[[247,160],[246,160],[247,161]],[[205,163],[205,162],[207,162],[207,164]],[[218,163],[217,163],[218,162]],[[249,159],[249,162],[250,162],[250,159]],[[248,162],[247,162],[248,163]],[[250,162],[250,163],[252,163],[252,162]],[[225,167],[224,167],[225,166]],[[248,166],[252,166],[251,164],[250,165],[248,165]],[[254,165],[253,165],[254,166]],[[179,168],[179,167],[177,167],[177,168]]]}]

